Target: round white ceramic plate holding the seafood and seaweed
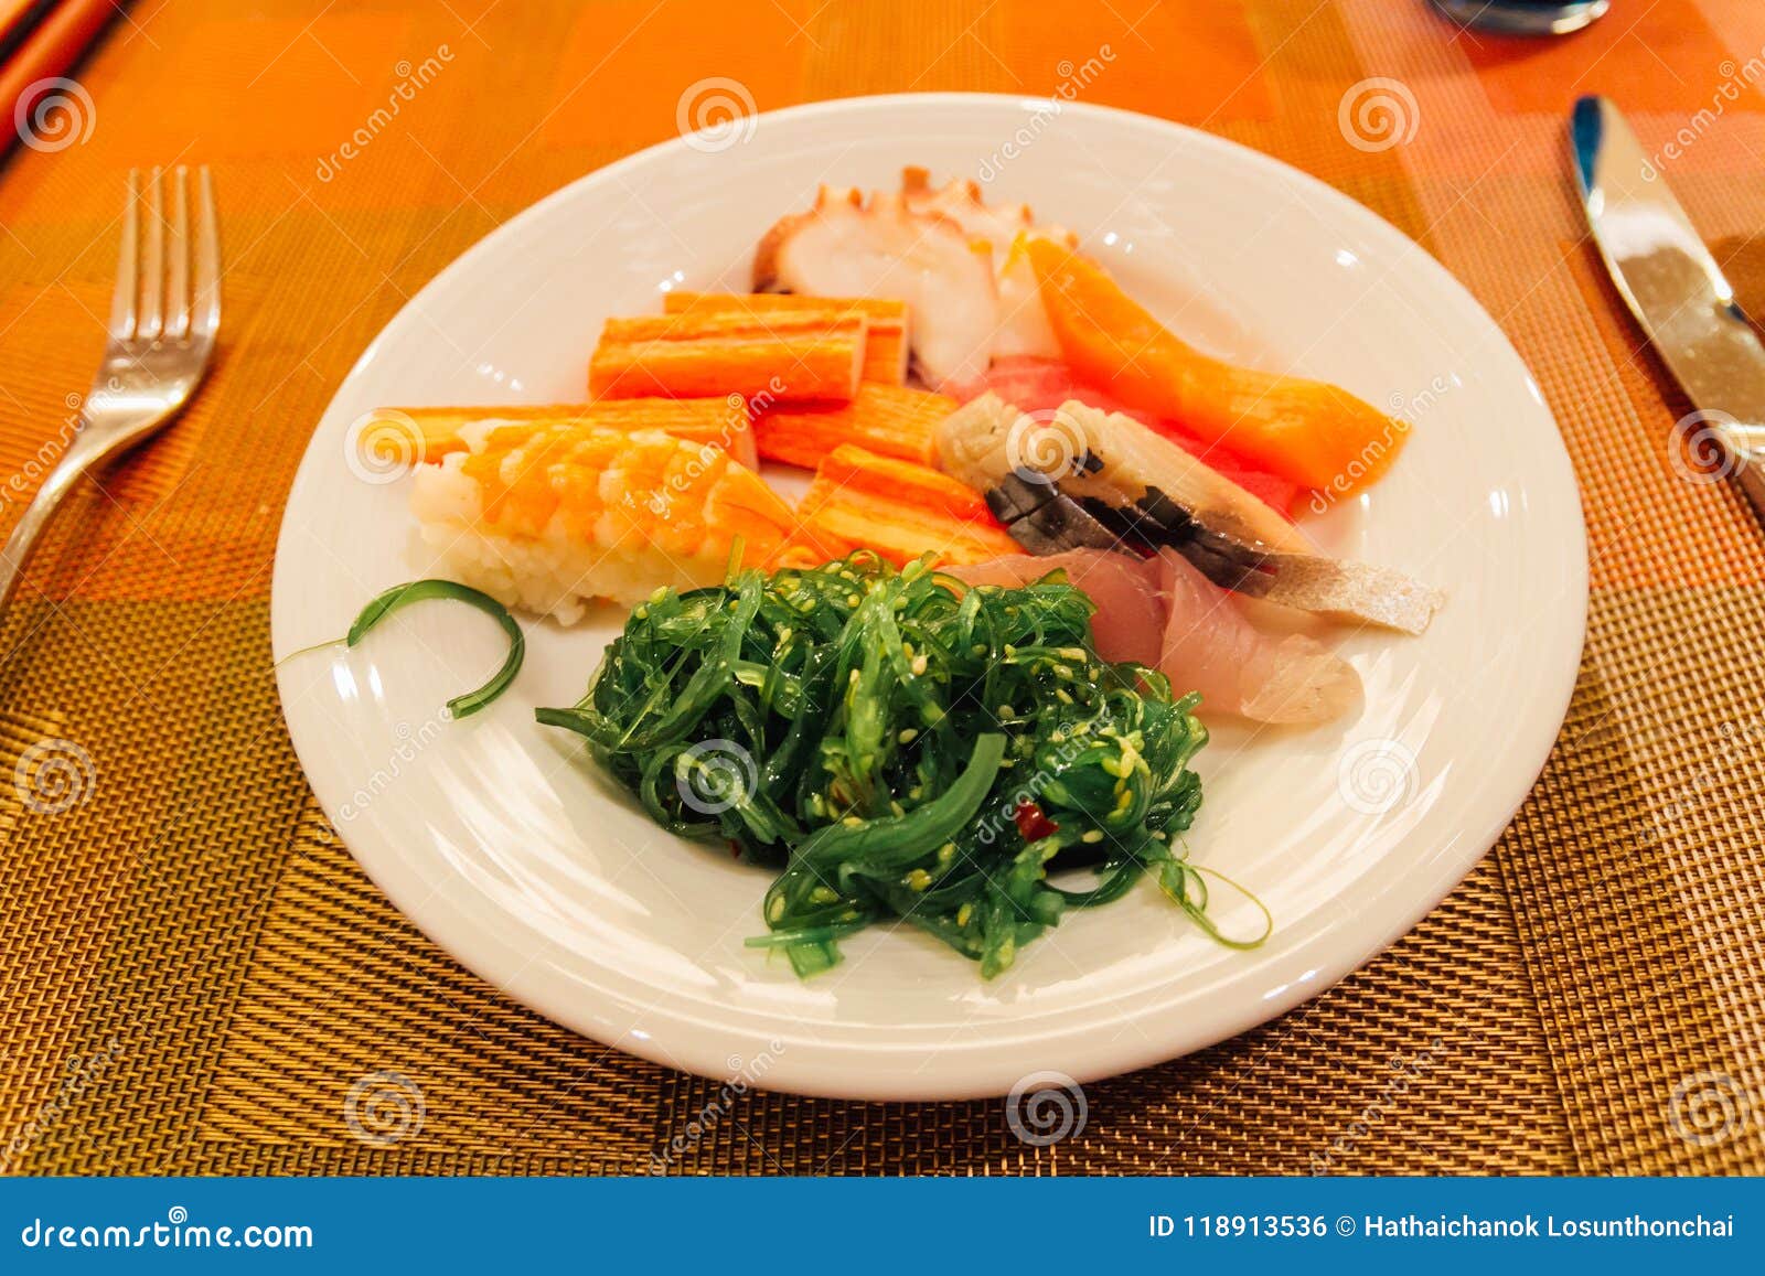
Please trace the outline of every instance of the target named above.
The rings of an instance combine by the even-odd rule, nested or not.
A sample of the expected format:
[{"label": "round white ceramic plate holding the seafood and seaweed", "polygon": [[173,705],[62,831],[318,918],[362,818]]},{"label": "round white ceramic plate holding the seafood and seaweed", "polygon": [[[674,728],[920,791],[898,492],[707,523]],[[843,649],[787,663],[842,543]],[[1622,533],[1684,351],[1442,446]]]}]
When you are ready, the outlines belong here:
[{"label": "round white ceramic plate holding the seafood and seaweed", "polygon": [[[408,478],[346,459],[381,404],[582,394],[609,314],[683,284],[741,288],[755,238],[819,182],[888,187],[902,164],[997,173],[1179,332],[1338,381],[1414,420],[1391,477],[1308,522],[1333,552],[1451,593],[1421,639],[1348,635],[1366,702],[1310,732],[1218,729],[1195,861],[1253,888],[1278,928],[1209,942],[1149,886],[1077,912],[1006,978],[905,932],[798,981],[743,948],[766,874],[657,831],[538,727],[574,702],[620,618],[530,623],[491,711],[441,722],[499,660],[482,616],[431,604],[348,657],[281,671],[319,803],[387,895],[468,967],[591,1038],[706,1075],[852,1098],[1080,1082],[1241,1032],[1405,934],[1490,849],[1557,736],[1581,651],[1585,538],[1567,457],[1527,369],[1426,252],[1329,187],[1158,120],[980,95],[877,97],[752,120],[724,148],[671,141],[593,173],[441,272],[362,355],[312,436],[275,561],[281,657],[344,632],[376,591],[429,575]],[[1225,928],[1246,905],[1216,897]],[[367,990],[364,995],[372,997]]]}]

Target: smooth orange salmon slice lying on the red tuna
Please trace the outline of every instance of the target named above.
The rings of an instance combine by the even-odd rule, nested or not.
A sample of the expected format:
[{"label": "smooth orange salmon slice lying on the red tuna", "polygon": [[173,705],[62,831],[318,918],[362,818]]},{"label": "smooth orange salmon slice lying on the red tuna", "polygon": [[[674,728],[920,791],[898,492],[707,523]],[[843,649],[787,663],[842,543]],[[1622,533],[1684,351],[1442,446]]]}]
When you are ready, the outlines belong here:
[{"label": "smooth orange salmon slice lying on the red tuna", "polygon": [[1207,443],[1341,494],[1375,482],[1408,427],[1322,381],[1236,367],[1200,353],[1145,312],[1091,258],[1045,238],[1022,244],[1073,374]]}]

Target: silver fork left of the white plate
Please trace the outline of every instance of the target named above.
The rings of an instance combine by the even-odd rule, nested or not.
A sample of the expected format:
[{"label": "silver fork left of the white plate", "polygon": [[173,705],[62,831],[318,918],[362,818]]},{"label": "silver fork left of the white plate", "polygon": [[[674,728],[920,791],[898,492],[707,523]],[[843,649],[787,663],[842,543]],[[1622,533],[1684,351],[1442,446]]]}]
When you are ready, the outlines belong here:
[{"label": "silver fork left of the white plate", "polygon": [[166,178],[162,169],[152,169],[143,196],[139,173],[129,169],[104,362],[79,406],[72,441],[0,549],[0,616],[32,545],[79,477],[171,420],[208,371],[221,327],[214,184],[207,168],[196,169],[192,238],[189,171],[180,164]]}]

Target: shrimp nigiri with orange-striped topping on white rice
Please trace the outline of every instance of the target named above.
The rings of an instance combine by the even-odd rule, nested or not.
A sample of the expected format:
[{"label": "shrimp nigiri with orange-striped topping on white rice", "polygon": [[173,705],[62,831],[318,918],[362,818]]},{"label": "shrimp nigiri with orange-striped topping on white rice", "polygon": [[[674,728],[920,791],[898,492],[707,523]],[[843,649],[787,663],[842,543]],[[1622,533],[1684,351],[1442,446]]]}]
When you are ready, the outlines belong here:
[{"label": "shrimp nigiri with orange-striped topping on white rice", "polygon": [[570,625],[588,604],[724,579],[792,540],[791,508],[722,448],[577,422],[473,422],[417,466],[411,510],[461,582]]}]

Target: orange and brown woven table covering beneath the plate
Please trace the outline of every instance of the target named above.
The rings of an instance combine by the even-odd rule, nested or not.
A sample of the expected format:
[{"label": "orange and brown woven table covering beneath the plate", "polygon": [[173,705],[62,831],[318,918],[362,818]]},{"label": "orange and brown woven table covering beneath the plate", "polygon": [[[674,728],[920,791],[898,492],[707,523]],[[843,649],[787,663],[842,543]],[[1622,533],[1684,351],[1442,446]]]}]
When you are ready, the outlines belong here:
[{"label": "orange and brown woven table covering beneath the plate", "polygon": [[[1581,242],[1560,155],[1576,92],[1629,92],[1645,139],[1671,138],[1724,65],[1765,48],[1761,19],[1742,0],[1661,0],[1521,65],[1384,0],[1078,5],[1057,30],[1008,0],[731,0],[715,19],[620,2],[379,0],[316,19],[136,5],[78,72],[90,136],[0,175],[0,485],[21,484],[0,528],[90,376],[129,164],[215,166],[226,349],[191,411],[79,498],[0,628],[0,777],[21,777],[0,784],[0,1165],[1765,1172],[1765,706],[1746,658],[1765,646],[1765,537],[1726,485],[1675,468],[1689,404]],[[1246,141],[1394,221],[1534,369],[1594,581],[1537,789],[1361,974],[1085,1087],[1084,1130],[1050,1147],[1018,1140],[1001,1103],[725,1096],[512,1004],[367,882],[281,725],[268,574],[311,424],[425,279],[538,194],[669,136],[694,81],[738,79],[762,108],[1050,92],[1089,58],[1089,101]],[[1394,139],[1345,113],[1370,78],[1401,86],[1386,86]],[[1749,244],[1765,97],[1746,92],[1671,176],[1742,289],[1765,293]]]}]

